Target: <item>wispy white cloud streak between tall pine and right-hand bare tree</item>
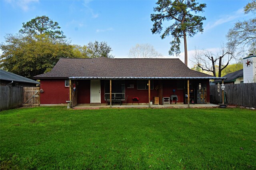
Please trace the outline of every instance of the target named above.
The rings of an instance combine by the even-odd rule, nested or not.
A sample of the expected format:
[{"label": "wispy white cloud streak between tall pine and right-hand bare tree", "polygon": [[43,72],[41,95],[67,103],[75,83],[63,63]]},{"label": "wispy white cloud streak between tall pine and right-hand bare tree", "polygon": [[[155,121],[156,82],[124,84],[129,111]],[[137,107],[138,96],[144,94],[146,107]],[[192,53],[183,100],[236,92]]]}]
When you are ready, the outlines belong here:
[{"label": "wispy white cloud streak between tall pine and right-hand bare tree", "polygon": [[233,20],[236,20],[237,18],[240,18],[244,16],[244,10],[243,8],[233,12],[233,14],[229,14],[229,15],[225,15],[225,16],[221,16],[220,19],[216,20],[215,22],[210,22],[208,23],[204,30],[210,30],[216,26],[219,26],[221,24],[224,24],[224,23],[227,23],[227,22],[230,22],[230,21],[233,21]]}]

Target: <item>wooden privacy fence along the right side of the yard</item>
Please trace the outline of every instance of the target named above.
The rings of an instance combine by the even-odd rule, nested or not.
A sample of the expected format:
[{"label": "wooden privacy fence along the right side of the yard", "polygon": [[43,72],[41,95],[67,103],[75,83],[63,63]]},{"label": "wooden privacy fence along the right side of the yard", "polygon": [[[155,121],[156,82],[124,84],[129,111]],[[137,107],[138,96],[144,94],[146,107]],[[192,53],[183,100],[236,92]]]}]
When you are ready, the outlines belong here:
[{"label": "wooden privacy fence along the right side of the yard", "polygon": [[[225,84],[224,86],[228,105],[256,107],[256,83]],[[220,103],[221,96],[221,89],[218,93],[218,86],[210,85],[210,102],[214,104]]]}]

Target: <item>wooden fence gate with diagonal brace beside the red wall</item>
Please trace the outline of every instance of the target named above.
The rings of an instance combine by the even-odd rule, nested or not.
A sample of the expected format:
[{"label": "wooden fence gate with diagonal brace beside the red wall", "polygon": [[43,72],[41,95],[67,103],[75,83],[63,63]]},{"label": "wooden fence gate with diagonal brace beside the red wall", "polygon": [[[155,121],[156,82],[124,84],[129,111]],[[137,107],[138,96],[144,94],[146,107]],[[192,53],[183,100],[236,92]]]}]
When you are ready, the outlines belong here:
[{"label": "wooden fence gate with diagonal brace beside the red wall", "polygon": [[23,87],[23,106],[40,106],[39,87]]}]

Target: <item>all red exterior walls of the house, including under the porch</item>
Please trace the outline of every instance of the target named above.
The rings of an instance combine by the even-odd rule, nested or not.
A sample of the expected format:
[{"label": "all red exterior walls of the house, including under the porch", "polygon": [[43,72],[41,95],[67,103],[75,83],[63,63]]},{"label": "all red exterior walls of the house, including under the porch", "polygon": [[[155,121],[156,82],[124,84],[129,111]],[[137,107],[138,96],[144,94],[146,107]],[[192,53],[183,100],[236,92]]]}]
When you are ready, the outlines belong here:
[{"label": "all red exterior walls of the house, including under the porch", "polygon": [[[183,81],[183,80],[179,80]],[[186,82],[184,85],[186,87]],[[199,83],[205,83],[207,86],[207,102],[210,102],[210,85],[208,80],[194,80],[190,81],[192,87],[196,88]],[[57,80],[41,80],[40,89],[44,92],[40,93],[40,103],[41,104],[61,104],[66,103],[69,100],[69,87],[65,87],[64,79]],[[153,100],[154,96],[159,96],[156,86],[160,84],[158,80],[151,80],[150,83],[154,84],[154,89],[150,90],[150,100]],[[134,89],[128,89],[128,85],[134,84]],[[175,95],[178,96],[178,103],[184,102],[184,90],[177,89],[177,80],[162,80],[163,85],[163,97],[170,97],[173,95],[173,89],[175,89]],[[126,80],[125,81],[125,95],[128,96],[127,103],[132,103],[133,97],[139,97],[139,103],[148,103],[148,89],[138,90],[137,80]],[[80,80],[77,85],[78,90],[78,104],[88,104],[90,103],[90,80]],[[104,101],[104,80],[101,81],[101,103]]]}]

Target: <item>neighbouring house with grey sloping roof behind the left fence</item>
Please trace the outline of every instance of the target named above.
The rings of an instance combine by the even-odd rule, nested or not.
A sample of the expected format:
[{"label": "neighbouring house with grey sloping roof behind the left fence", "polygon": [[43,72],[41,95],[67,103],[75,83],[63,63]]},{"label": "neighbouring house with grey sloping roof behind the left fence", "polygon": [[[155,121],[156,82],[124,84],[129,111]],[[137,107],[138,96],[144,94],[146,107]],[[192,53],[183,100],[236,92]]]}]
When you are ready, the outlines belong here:
[{"label": "neighbouring house with grey sloping roof behind the left fence", "polygon": [[10,73],[8,71],[0,69],[1,86],[36,87],[39,84],[40,83],[38,81],[34,81],[26,77],[22,77],[20,75],[16,75],[14,73]]}]

